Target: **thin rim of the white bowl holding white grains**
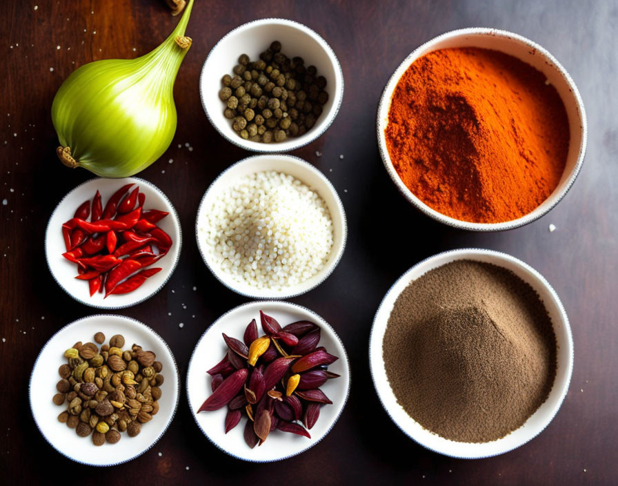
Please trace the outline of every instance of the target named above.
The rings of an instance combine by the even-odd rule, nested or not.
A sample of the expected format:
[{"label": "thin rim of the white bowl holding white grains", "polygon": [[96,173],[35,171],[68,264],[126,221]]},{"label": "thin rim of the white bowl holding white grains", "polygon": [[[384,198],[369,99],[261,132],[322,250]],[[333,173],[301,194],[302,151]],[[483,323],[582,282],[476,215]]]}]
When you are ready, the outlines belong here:
[{"label": "thin rim of the white bowl holding white grains", "polygon": [[[203,251],[201,240],[199,239],[199,215],[203,209],[203,204],[206,201],[206,197],[208,196],[208,193],[210,193],[210,190],[215,186],[215,184],[217,184],[217,182],[219,182],[219,179],[221,179],[223,175],[228,173],[228,171],[231,171],[232,168],[239,166],[240,164],[250,162],[254,159],[269,159],[269,158],[282,159],[285,162],[292,162],[292,163],[300,164],[301,166],[304,166],[305,168],[308,168],[310,171],[316,173],[316,175],[320,179],[323,179],[323,181],[326,182],[326,186],[328,190],[332,193],[332,195],[335,198],[335,204],[339,208],[339,211],[341,211],[341,249],[339,249],[339,251],[337,252],[337,255],[335,259],[333,260],[332,264],[330,264],[330,269],[328,269],[328,271],[326,272],[323,272],[323,275],[321,276],[321,278],[319,278],[319,280],[317,280],[315,284],[313,284],[312,286],[306,289],[303,289],[301,291],[293,291],[293,292],[287,291],[287,292],[282,292],[281,294],[277,294],[277,295],[273,295],[273,294],[259,295],[257,293],[248,293],[245,291],[241,291],[237,289],[235,286],[233,286],[232,284],[225,282],[219,275],[222,272],[219,269],[214,269],[213,266],[210,265],[210,263],[208,262],[208,259],[206,258],[206,254]],[[295,179],[299,179],[299,177],[295,177]],[[308,184],[306,184],[306,182],[304,182],[303,180],[301,180],[301,182],[308,186]],[[311,188],[311,189],[315,190],[314,188]],[[330,207],[329,207],[329,211],[330,211]],[[346,244],[348,242],[348,223],[346,220],[346,210],[343,207],[343,202],[341,201],[341,197],[339,197],[339,193],[337,193],[335,186],[332,185],[332,182],[330,182],[328,177],[326,177],[326,175],[324,175],[322,171],[319,170],[319,168],[310,164],[306,160],[301,159],[300,157],[297,157],[296,155],[266,153],[266,154],[250,155],[249,157],[240,159],[238,162],[235,162],[234,164],[226,168],[225,171],[219,173],[219,175],[217,175],[215,180],[212,181],[210,186],[208,186],[208,188],[206,189],[206,192],[203,193],[203,196],[201,197],[201,200],[197,206],[197,214],[195,215],[195,239],[197,240],[197,249],[199,250],[199,254],[201,255],[203,262],[206,264],[206,267],[208,268],[208,270],[210,270],[210,273],[212,273],[212,275],[214,275],[215,278],[219,280],[221,284],[223,284],[223,286],[226,286],[231,291],[234,291],[237,294],[242,295],[243,297],[246,297],[246,298],[250,298],[250,299],[283,300],[283,299],[292,299],[292,298],[298,297],[299,295],[303,295],[304,293],[308,293],[309,291],[312,291],[313,289],[315,289],[317,286],[323,284],[323,282],[328,277],[330,277],[332,272],[334,272],[335,269],[337,268],[337,265],[339,265],[339,262],[341,261],[341,258],[343,257],[343,253],[345,253],[346,251]],[[334,247],[334,242],[333,242],[333,247]],[[319,273],[321,273],[324,269],[326,269],[326,266],[323,269],[321,269],[316,275],[319,275]]]}]

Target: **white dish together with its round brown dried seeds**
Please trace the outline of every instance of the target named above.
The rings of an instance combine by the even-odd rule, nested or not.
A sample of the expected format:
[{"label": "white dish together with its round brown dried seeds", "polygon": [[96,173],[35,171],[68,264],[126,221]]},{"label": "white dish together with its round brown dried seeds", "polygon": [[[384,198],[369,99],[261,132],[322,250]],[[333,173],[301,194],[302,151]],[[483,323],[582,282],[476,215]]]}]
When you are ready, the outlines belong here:
[{"label": "white dish together with its round brown dried seeds", "polygon": [[155,331],[121,315],[92,315],[60,329],[30,376],[34,422],[77,463],[126,463],[163,436],[176,413],[178,369]]}]

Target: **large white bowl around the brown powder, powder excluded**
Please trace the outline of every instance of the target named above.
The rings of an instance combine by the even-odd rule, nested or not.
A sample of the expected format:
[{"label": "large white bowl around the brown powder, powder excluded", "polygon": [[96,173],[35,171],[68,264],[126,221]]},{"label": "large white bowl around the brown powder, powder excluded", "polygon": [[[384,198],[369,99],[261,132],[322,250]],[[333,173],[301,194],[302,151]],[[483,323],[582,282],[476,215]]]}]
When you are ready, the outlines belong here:
[{"label": "large white bowl around the brown powder, powder excluded", "polygon": [[[515,273],[535,289],[549,313],[556,334],[557,341],[557,370],[554,385],[549,393],[547,400],[535,411],[528,420],[512,431],[507,436],[487,443],[462,443],[455,440],[448,440],[437,434],[424,429],[418,422],[410,417],[407,412],[397,403],[395,393],[388,383],[388,376],[384,367],[382,357],[382,342],[388,318],[399,294],[406,289],[406,286],[417,280],[421,275],[439,266],[453,262],[455,260],[476,260],[478,262],[488,262],[502,266]],[[480,250],[480,249],[461,249],[438,253],[429,257],[410,270],[401,275],[399,280],[393,284],[384,296],[380,307],[373,320],[369,342],[369,365],[373,383],[382,402],[386,413],[390,416],[395,425],[399,427],[412,440],[430,449],[461,459],[477,459],[504,454],[524,445],[547,427],[552,418],[557,414],[562,400],[568,391],[568,385],[573,369],[573,340],[568,324],[568,318],[557,293],[543,276],[528,264],[517,260],[517,258],[500,253],[499,251]]]}]

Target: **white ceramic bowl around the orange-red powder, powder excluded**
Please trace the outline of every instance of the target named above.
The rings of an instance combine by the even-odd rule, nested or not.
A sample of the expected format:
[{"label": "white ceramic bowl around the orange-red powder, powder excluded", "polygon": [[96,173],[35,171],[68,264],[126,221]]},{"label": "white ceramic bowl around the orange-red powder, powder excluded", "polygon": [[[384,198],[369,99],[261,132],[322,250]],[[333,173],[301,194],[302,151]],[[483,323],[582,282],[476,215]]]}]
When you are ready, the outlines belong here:
[{"label": "white ceramic bowl around the orange-red powder, powder excluded", "polygon": [[[512,55],[530,64],[530,66],[541,71],[554,86],[560,95],[566,114],[568,115],[570,128],[570,144],[566,159],[564,173],[560,179],[558,186],[551,195],[534,211],[528,213],[517,220],[501,222],[501,223],[473,223],[443,215],[435,209],[430,208],[427,204],[419,200],[418,197],[408,187],[403,184],[397,171],[392,166],[388,149],[386,148],[386,138],[384,130],[388,126],[388,110],[390,109],[390,100],[392,93],[399,82],[399,79],[410,65],[419,57],[428,54],[434,50],[445,48],[461,48],[461,47],[477,47],[485,49],[499,50],[508,55]],[[386,171],[390,178],[412,205],[416,206],[420,211],[433,219],[455,226],[455,228],[467,229],[472,231],[501,231],[506,229],[517,228],[523,226],[539,217],[546,214],[566,195],[570,186],[575,182],[575,178],[579,173],[581,164],[584,162],[584,153],[586,153],[586,139],[588,137],[588,128],[586,123],[586,112],[584,111],[584,102],[581,101],[579,91],[575,82],[568,75],[568,72],[547,50],[539,46],[539,44],[521,37],[521,35],[506,32],[506,30],[497,30],[490,28],[465,28],[460,30],[452,30],[446,34],[439,35],[424,43],[419,48],[403,60],[392,77],[388,80],[386,88],[382,93],[377,114],[377,137],[380,155]]]}]

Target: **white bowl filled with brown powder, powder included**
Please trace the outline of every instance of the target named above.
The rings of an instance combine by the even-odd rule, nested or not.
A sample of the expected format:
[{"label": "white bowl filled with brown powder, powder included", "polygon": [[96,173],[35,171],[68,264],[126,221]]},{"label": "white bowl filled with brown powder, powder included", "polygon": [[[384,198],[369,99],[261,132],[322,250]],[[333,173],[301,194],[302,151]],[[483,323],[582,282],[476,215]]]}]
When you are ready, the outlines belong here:
[{"label": "white bowl filled with brown powder, powder included", "polygon": [[446,456],[484,458],[528,442],[554,418],[573,366],[552,286],[497,251],[423,260],[375,315],[370,367],[390,418]]}]

